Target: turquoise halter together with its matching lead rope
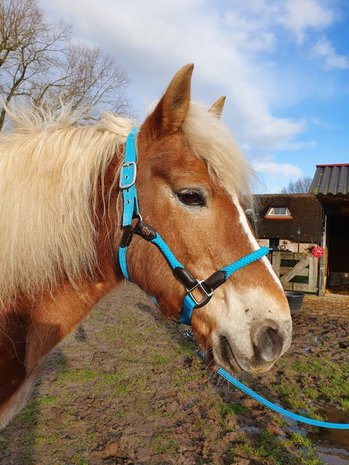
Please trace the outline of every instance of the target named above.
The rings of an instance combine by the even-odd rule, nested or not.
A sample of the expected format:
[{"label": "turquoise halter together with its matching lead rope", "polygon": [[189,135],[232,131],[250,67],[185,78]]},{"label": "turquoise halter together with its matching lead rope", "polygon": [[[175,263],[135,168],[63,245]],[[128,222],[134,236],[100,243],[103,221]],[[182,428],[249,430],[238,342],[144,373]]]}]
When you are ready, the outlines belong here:
[{"label": "turquoise halter together with its matching lead rope", "polygon": [[[211,275],[206,281],[196,280],[177,260],[177,258],[175,257],[169,246],[166,244],[166,242],[163,240],[163,238],[160,236],[160,234],[155,229],[142,222],[135,184],[137,177],[136,137],[137,128],[134,128],[130,132],[126,141],[125,160],[120,173],[119,187],[122,191],[124,205],[122,214],[122,229],[124,231],[124,235],[118,250],[120,269],[124,277],[130,281],[131,278],[127,268],[127,249],[131,242],[133,234],[139,234],[144,239],[152,242],[161,251],[162,255],[167,260],[167,263],[169,264],[176,278],[179,279],[186,287],[187,293],[183,300],[182,313],[179,322],[186,325],[190,325],[193,310],[202,305],[205,305],[211,298],[214,289],[223,284],[236,271],[240,270],[241,268],[244,268],[245,266],[250,265],[251,263],[257,260],[260,260],[269,252],[269,249],[268,247],[262,247],[258,250],[255,250],[251,254],[240,258],[239,260],[231,263],[230,265],[224,268],[221,268],[216,273]],[[135,228],[132,227],[132,220],[135,218],[138,219],[138,224],[140,224],[140,227],[138,229],[137,226]],[[217,279],[212,279],[217,278],[217,275],[219,277],[218,281]],[[195,280],[195,286],[193,287],[193,289],[195,289],[196,287],[200,287],[200,289],[204,293],[206,293],[207,298],[205,299],[205,302],[203,304],[198,303],[195,300],[194,296],[191,293],[193,289],[190,289],[190,286],[187,286],[187,283],[192,282],[192,280]],[[208,284],[212,286],[212,292],[210,292],[210,289],[207,290],[206,287]],[[155,297],[151,297],[151,299],[154,303],[157,304]],[[302,415],[297,415],[295,413],[289,412],[288,410],[274,404],[273,402],[270,402],[261,395],[257,394],[252,389],[245,386],[236,378],[234,378],[230,373],[226,372],[223,368],[218,368],[217,373],[222,378],[226,379],[230,384],[237,387],[248,396],[252,397],[253,399],[260,402],[262,405],[268,407],[269,409],[273,410],[274,412],[277,412],[280,415],[283,415],[287,418],[299,421],[301,423],[305,423],[307,425],[317,426],[321,428],[343,430],[349,429],[349,424],[329,423],[326,421],[313,420],[311,418],[303,417]]]}]

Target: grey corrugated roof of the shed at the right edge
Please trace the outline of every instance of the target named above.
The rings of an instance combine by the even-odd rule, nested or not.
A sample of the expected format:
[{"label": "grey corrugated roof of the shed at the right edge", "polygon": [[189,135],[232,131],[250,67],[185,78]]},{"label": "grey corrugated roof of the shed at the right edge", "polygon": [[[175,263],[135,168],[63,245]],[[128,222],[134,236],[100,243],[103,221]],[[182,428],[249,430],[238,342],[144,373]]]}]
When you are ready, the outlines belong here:
[{"label": "grey corrugated roof of the shed at the right edge", "polygon": [[316,165],[309,192],[322,195],[349,194],[349,163]]}]

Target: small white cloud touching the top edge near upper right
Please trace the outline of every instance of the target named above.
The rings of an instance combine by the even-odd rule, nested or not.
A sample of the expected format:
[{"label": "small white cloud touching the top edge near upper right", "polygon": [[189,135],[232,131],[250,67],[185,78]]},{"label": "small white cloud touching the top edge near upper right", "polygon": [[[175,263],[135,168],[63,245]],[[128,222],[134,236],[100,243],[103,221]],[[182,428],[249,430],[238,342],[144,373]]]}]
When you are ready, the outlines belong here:
[{"label": "small white cloud touching the top edge near upper right", "polygon": [[321,0],[287,0],[286,11],[280,23],[290,29],[298,43],[302,43],[310,29],[325,29],[330,26],[336,14]]}]

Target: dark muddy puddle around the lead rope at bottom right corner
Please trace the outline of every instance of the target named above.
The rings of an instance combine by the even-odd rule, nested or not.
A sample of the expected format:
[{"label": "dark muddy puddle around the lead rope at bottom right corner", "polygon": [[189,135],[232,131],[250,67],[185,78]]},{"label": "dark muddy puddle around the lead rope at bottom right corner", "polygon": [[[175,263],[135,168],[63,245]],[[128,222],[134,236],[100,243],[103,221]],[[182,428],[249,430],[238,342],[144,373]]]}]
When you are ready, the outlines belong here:
[{"label": "dark muddy puddle around the lead rope at bottom right corner", "polygon": [[[333,423],[349,423],[349,411],[342,412],[335,408],[323,408],[321,414]],[[349,430],[320,428],[307,437],[317,446],[321,458],[328,465],[349,464]]]}]

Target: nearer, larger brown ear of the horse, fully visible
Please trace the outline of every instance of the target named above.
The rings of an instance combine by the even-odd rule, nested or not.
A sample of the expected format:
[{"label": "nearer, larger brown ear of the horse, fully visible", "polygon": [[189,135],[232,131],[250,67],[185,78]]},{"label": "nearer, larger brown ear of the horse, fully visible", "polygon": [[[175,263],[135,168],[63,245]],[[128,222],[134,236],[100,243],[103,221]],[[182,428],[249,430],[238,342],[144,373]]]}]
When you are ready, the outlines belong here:
[{"label": "nearer, larger brown ear of the horse, fully visible", "polygon": [[150,115],[149,122],[154,135],[172,134],[182,126],[189,110],[193,68],[193,64],[185,65],[175,74],[165,94]]}]

